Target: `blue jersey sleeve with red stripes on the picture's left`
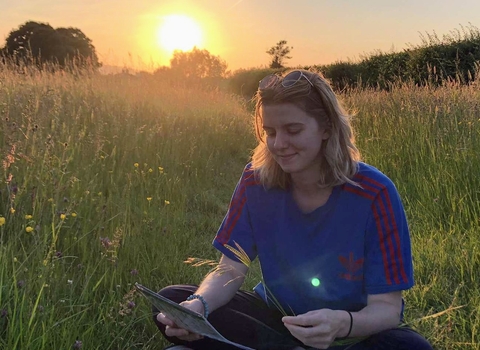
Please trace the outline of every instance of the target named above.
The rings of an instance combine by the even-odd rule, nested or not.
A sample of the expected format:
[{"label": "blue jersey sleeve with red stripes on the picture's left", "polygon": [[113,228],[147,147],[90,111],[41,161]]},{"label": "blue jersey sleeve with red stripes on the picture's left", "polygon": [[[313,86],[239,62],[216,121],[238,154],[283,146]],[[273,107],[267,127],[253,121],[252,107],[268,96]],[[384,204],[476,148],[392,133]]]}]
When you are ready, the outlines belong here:
[{"label": "blue jersey sleeve with red stripes on the picture's left", "polygon": [[253,171],[249,170],[247,166],[237,183],[227,214],[212,243],[216,249],[232,260],[240,261],[227,246],[237,251],[243,250],[250,261],[253,261],[257,256],[248,210],[247,193],[248,188],[255,184]]}]

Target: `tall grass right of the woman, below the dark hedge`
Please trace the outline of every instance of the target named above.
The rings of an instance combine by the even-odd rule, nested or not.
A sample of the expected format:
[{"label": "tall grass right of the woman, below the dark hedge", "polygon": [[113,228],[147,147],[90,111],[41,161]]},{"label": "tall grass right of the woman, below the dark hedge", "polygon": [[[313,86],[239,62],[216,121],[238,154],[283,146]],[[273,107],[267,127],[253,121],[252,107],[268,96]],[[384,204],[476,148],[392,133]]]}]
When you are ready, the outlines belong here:
[{"label": "tall grass right of the woman, below the dark hedge", "polygon": [[346,97],[364,159],[392,178],[407,210],[417,282],[406,293],[409,320],[439,349],[479,349],[478,88],[402,86]]}]

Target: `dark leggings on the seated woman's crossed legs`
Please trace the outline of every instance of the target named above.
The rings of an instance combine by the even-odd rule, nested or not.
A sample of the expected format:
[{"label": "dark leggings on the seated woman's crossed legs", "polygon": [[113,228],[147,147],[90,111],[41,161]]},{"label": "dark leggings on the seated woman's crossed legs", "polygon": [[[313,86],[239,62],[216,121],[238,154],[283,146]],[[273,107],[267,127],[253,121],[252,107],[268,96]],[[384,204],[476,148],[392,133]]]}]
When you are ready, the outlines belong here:
[{"label": "dark leggings on the seated woman's crossed legs", "polygon": [[[162,289],[159,294],[180,303],[195,293],[197,286],[176,285]],[[183,344],[195,350],[235,350],[237,348],[217,340],[203,338],[184,342],[165,335],[165,326],[157,321],[158,310],[153,309],[153,319],[163,336],[174,344]],[[269,308],[254,292],[238,291],[226,305],[212,312],[208,321],[227,339],[257,350],[289,350],[303,346],[285,328],[282,314]],[[420,334],[410,328],[395,328],[368,337],[350,346],[331,347],[335,350],[432,350]]]}]

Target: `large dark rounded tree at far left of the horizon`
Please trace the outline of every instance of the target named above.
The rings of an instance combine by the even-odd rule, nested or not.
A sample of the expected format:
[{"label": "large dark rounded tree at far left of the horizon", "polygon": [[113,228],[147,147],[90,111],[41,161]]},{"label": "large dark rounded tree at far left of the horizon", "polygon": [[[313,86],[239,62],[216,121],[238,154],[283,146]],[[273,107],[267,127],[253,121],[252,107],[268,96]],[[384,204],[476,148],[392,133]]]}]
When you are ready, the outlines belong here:
[{"label": "large dark rounded tree at far left of the horizon", "polygon": [[92,41],[80,29],[54,29],[49,24],[33,21],[10,32],[3,53],[17,63],[100,66]]}]

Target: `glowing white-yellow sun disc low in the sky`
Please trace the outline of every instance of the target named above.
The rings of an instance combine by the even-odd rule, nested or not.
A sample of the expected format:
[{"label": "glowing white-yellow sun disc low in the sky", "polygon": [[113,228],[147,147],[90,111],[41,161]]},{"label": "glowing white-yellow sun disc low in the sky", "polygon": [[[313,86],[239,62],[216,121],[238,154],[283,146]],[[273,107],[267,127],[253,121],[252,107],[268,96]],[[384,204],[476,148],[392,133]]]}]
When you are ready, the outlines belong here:
[{"label": "glowing white-yellow sun disc low in the sky", "polygon": [[202,43],[202,30],[190,17],[166,16],[158,29],[158,43],[166,51],[190,51]]}]

